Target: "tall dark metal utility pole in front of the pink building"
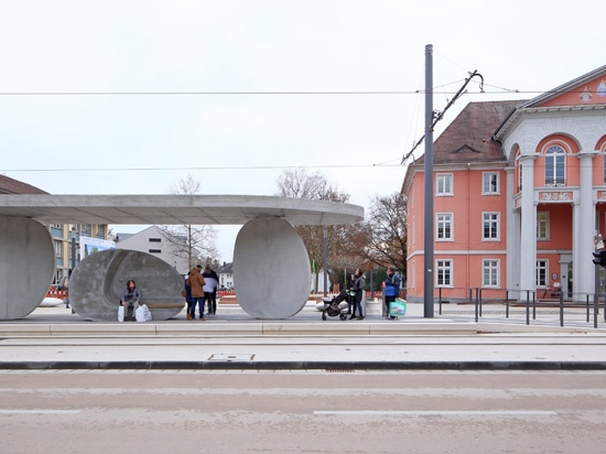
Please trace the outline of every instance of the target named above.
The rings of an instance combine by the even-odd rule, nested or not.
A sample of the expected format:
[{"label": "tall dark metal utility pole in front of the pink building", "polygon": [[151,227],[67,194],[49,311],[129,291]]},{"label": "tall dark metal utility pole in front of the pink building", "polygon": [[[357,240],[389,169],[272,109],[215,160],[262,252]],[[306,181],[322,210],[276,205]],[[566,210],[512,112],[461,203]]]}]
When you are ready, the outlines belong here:
[{"label": "tall dark metal utility pole in front of the pink building", "polygon": [[433,318],[433,45],[425,46],[425,230],[423,316]]}]

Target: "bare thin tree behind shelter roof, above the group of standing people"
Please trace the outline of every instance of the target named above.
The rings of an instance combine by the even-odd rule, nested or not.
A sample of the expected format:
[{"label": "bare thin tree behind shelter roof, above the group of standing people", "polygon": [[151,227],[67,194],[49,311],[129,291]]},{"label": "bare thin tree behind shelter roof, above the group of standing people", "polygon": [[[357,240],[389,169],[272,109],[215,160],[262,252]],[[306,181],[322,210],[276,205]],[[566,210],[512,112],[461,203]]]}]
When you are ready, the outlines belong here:
[{"label": "bare thin tree behind shelter roof, above the group of standing people", "polygon": [[[191,174],[178,180],[172,187],[173,194],[194,195],[201,191],[199,181]],[[164,239],[177,257],[186,258],[190,269],[198,263],[217,263],[218,251],[215,245],[217,236],[212,226],[180,225],[162,226]]]}]

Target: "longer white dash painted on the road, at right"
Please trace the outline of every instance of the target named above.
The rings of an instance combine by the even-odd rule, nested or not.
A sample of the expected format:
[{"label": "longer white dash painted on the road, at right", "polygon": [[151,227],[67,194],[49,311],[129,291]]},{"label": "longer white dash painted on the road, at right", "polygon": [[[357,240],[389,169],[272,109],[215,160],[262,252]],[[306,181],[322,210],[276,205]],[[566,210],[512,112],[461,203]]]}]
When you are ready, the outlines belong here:
[{"label": "longer white dash painted on the road, at right", "polygon": [[501,411],[450,411],[450,410],[351,410],[351,411],[314,411],[314,414],[332,415],[365,415],[365,417],[550,417],[558,414],[555,411],[542,410],[501,410]]}]

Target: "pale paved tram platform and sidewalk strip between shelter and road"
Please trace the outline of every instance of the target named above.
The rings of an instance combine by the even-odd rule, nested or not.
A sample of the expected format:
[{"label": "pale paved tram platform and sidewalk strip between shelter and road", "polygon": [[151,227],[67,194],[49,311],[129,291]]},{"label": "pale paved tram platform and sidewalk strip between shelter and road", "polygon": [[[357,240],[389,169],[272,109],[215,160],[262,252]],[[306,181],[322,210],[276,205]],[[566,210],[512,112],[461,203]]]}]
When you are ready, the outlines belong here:
[{"label": "pale paved tram platform and sidewalk strip between shelter and road", "polygon": [[[39,307],[0,322],[0,369],[594,369],[606,370],[606,326],[584,312],[543,310],[530,325],[526,310],[422,304],[388,321],[322,321],[312,305],[289,320],[260,321],[219,306],[207,322],[89,322],[64,305]],[[511,310],[513,311],[513,310]],[[518,311],[516,309],[515,311]],[[375,307],[375,312],[378,312]],[[574,315],[574,316],[573,316]],[[602,315],[600,315],[602,316]]]}]

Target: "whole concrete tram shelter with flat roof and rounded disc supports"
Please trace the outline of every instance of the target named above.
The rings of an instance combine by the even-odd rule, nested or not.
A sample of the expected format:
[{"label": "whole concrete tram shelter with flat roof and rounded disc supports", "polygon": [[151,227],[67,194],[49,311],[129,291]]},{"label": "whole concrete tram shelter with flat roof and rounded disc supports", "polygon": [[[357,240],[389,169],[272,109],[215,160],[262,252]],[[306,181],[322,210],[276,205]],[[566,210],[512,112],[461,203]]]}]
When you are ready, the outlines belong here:
[{"label": "whole concrete tram shelter with flat roof and rounded disc supports", "polygon": [[[361,206],[249,195],[1,195],[0,320],[22,318],[43,301],[55,270],[48,224],[244,225],[234,250],[234,282],[244,311],[288,318],[306,304],[311,269],[293,226],[351,224]],[[93,321],[116,321],[128,279],[143,292],[154,320],[183,310],[181,275],[138,251],[106,250],[74,270],[69,303]]]}]

